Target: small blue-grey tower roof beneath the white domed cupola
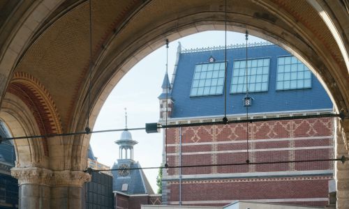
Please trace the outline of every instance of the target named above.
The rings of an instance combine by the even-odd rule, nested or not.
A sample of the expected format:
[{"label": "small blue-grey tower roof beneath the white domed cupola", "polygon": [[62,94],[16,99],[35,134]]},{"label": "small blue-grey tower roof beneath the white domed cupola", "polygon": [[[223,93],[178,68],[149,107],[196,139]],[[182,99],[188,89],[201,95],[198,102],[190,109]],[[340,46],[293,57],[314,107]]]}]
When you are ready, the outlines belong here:
[{"label": "small blue-grey tower roof beneath the white domed cupola", "polygon": [[[122,163],[119,163],[122,164]],[[115,163],[112,169],[117,169],[119,165]],[[131,169],[140,168],[138,162],[133,162],[130,164]],[[119,176],[118,171],[112,171],[113,191],[123,192],[126,194],[154,194],[151,189],[147,177],[144,175],[141,169],[130,170],[130,174],[127,177]],[[122,185],[127,184],[128,188],[126,191],[122,191]]]}]

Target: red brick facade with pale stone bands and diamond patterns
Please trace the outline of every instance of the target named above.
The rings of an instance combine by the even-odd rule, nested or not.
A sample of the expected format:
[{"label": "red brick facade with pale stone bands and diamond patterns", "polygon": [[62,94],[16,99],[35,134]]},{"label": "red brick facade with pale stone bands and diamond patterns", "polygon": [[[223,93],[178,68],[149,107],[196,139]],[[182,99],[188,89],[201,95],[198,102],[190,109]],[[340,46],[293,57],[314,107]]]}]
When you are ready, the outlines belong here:
[{"label": "red brick facade with pale stone bands and diamond patterns", "polygon": [[[249,123],[248,152],[246,130],[246,123],[168,130],[170,166],[244,163],[247,159],[286,162],[182,168],[184,205],[223,206],[234,200],[327,204],[333,163],[288,161],[332,158],[332,118]],[[164,177],[168,204],[179,203],[179,172],[168,169]]]}]

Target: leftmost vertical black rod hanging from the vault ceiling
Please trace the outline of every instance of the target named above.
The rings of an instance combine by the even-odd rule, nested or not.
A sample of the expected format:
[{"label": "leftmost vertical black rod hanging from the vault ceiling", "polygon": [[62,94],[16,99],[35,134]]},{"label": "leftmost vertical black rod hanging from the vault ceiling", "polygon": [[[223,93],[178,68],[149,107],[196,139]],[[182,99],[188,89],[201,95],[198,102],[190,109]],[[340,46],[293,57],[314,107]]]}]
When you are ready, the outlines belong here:
[{"label": "leftmost vertical black rod hanging from the vault ceiling", "polygon": [[86,134],[91,132],[89,127],[89,114],[91,112],[91,80],[92,80],[92,15],[91,1],[89,0],[89,95],[88,95],[88,110],[87,110],[87,126],[85,127]]}]

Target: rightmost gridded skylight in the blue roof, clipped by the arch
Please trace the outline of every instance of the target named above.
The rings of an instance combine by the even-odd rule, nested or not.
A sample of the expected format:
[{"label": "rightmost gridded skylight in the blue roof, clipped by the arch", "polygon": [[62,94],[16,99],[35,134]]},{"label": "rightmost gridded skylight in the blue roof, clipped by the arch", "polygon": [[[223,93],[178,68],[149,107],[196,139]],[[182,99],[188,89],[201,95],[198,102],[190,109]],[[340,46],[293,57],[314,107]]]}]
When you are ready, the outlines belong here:
[{"label": "rightmost gridded skylight in the blue roof, clipped by the arch", "polygon": [[276,90],[311,88],[311,71],[295,56],[278,58]]}]

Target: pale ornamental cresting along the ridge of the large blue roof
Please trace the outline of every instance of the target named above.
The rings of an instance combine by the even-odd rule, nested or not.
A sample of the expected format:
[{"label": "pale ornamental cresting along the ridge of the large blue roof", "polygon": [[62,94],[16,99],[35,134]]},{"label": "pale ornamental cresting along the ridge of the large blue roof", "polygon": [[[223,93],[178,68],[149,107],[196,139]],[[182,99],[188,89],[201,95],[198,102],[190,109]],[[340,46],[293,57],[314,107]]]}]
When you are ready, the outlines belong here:
[{"label": "pale ornamental cresting along the ridge of the large blue roof", "polygon": [[[269,46],[274,45],[274,43],[269,41],[260,41],[260,42],[251,42],[247,44],[247,47],[262,47],[262,46]],[[227,45],[227,49],[237,49],[237,48],[243,48],[246,47],[246,44],[235,44],[235,45]],[[221,50],[225,49],[225,46],[218,46],[218,47],[201,47],[201,48],[195,48],[195,49],[181,49],[181,54],[185,53],[192,53],[192,52],[209,52],[212,50]]]}]

